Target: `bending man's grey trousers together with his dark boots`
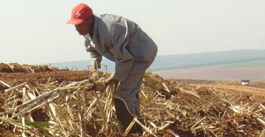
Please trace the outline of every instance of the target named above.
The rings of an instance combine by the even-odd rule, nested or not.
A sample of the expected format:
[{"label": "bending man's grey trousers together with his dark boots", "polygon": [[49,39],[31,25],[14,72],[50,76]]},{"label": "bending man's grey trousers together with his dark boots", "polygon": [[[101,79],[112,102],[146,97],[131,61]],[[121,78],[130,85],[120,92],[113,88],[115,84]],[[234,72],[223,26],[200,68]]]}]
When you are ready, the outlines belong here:
[{"label": "bending man's grey trousers together with his dark boots", "polygon": [[[148,60],[135,61],[125,81],[120,81],[117,86],[113,101],[120,134],[123,134],[135,116],[138,116],[138,120],[142,123],[142,119],[139,117],[140,103],[138,93],[141,89],[145,70],[148,69],[156,57],[156,46],[153,47],[153,51],[155,51],[155,54],[149,55]],[[135,123],[130,129],[129,134],[136,132],[142,134],[143,130],[140,125]]]}]

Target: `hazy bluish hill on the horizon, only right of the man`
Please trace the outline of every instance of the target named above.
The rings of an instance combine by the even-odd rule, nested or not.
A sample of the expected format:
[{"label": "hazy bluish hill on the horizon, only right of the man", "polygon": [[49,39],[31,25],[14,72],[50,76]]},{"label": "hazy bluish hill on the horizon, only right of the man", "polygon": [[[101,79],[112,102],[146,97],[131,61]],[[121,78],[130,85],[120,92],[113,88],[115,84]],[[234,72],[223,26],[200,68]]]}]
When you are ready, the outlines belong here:
[{"label": "hazy bluish hill on the horizon, only right of the man", "polygon": [[265,60],[265,50],[237,50],[158,56],[152,71],[186,69],[228,63]]}]

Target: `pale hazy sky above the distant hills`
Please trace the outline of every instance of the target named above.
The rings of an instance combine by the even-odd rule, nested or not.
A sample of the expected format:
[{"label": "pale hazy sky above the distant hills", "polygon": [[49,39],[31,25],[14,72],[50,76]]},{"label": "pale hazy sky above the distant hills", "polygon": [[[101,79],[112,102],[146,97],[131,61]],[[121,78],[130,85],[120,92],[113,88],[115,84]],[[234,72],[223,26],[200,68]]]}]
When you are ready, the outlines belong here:
[{"label": "pale hazy sky above the distant hills", "polygon": [[0,0],[0,62],[89,60],[83,36],[66,24],[79,3],[136,22],[158,55],[265,49],[264,0]]}]

